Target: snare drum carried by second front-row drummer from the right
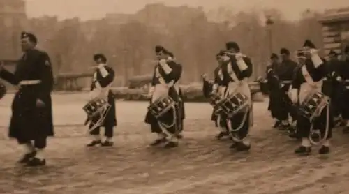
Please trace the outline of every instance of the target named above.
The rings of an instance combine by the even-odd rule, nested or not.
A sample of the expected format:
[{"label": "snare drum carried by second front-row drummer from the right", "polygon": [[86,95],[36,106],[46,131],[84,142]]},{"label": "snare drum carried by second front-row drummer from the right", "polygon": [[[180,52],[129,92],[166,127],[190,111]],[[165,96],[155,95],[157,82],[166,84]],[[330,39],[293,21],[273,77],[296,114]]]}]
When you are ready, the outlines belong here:
[{"label": "snare drum carried by second front-row drummer from the right", "polygon": [[243,111],[248,107],[248,97],[241,93],[230,94],[218,103],[218,107],[228,115],[232,117],[237,112]]}]

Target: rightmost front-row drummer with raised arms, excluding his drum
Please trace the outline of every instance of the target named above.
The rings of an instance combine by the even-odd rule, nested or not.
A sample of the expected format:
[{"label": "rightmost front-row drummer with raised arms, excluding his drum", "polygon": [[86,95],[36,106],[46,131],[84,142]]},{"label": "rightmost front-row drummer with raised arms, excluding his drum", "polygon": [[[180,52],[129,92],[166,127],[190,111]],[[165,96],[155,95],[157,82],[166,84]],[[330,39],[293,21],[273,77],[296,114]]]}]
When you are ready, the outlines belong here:
[{"label": "rightmost front-row drummer with raised arms, excluding his drum", "polygon": [[[304,53],[305,51],[305,53]],[[310,40],[306,40],[303,45],[303,51],[298,52],[299,63],[301,68],[297,69],[295,79],[292,82],[292,90],[290,91],[293,103],[302,104],[305,98],[309,98],[310,94],[322,91],[322,80],[327,74],[325,61],[320,59],[315,50],[315,45]],[[302,137],[302,144],[295,149],[295,154],[309,154],[311,152],[311,130],[320,130],[324,142],[319,149],[319,154],[329,153],[329,140],[332,138],[332,114],[330,107],[325,107],[320,116],[310,121],[309,118],[298,115],[297,129]],[[327,137],[325,134],[327,133]]]}]

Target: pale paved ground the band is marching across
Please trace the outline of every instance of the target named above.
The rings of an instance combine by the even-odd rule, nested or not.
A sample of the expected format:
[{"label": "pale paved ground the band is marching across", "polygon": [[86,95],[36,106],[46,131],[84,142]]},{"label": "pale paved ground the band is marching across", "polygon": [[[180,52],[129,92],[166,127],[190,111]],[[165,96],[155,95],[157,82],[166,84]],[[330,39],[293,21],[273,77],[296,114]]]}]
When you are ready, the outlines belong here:
[{"label": "pale paved ground the band is marching across", "polygon": [[[0,126],[7,126],[13,96],[0,100]],[[298,157],[297,142],[273,130],[267,103],[255,103],[253,148],[249,154],[213,139],[211,107],[186,105],[185,138],[172,150],[149,148],[143,124],[147,103],[117,102],[119,126],[112,148],[87,149],[82,95],[54,96],[57,137],[47,149],[47,167],[14,164],[18,151],[0,127],[0,193],[348,193],[349,137],[334,135],[329,156]]]}]

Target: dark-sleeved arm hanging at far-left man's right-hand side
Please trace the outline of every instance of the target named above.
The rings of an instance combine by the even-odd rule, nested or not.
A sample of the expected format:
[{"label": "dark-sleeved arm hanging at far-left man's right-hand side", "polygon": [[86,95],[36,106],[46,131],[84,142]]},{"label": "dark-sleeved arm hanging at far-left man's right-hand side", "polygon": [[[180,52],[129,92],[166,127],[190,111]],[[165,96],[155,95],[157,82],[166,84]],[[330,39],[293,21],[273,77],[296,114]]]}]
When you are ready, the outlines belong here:
[{"label": "dark-sleeved arm hanging at far-left man's right-hand side", "polygon": [[40,54],[38,62],[40,84],[38,87],[38,98],[44,99],[51,94],[53,89],[53,73],[50,57],[47,53]]}]

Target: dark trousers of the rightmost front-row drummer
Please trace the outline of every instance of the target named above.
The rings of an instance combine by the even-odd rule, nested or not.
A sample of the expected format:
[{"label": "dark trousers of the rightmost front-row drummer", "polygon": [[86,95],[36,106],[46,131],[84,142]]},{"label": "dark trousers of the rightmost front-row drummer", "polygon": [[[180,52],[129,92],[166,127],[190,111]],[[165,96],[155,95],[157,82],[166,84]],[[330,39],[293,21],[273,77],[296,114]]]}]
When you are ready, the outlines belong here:
[{"label": "dark trousers of the rightmost front-row drummer", "polygon": [[[317,117],[313,120],[313,129],[314,130],[320,130],[321,135],[325,135],[325,129],[327,125],[327,120],[329,122],[329,131],[327,135],[327,139],[332,138],[332,128],[334,126],[334,121],[333,121],[333,113],[331,107],[329,107],[329,115],[327,119],[327,107],[322,110],[320,117]],[[311,122],[309,119],[303,117],[302,115],[298,115],[297,119],[297,133],[300,137],[309,137],[310,135],[310,130],[311,130]]]}]

